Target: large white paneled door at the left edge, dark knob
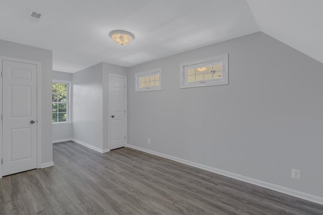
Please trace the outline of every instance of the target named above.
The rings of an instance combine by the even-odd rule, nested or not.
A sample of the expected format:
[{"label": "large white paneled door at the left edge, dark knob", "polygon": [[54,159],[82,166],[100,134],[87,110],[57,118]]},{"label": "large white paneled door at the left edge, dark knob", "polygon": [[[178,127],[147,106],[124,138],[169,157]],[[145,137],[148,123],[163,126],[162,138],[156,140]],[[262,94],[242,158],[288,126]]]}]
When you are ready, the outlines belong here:
[{"label": "large white paneled door at the left edge, dark knob", "polygon": [[37,168],[37,65],[3,60],[3,176]]}]

